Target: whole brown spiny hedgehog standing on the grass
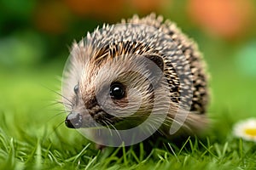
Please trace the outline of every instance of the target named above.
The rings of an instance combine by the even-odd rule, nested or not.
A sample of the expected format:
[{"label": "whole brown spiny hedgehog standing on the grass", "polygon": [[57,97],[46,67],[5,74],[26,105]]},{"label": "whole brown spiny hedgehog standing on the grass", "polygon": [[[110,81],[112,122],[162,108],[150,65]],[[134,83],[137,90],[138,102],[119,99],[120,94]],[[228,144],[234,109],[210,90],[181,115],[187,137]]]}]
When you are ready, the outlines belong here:
[{"label": "whole brown spiny hedgehog standing on the grass", "polygon": [[73,43],[65,124],[109,146],[199,133],[208,124],[205,65],[195,42],[162,16],[104,24]]}]

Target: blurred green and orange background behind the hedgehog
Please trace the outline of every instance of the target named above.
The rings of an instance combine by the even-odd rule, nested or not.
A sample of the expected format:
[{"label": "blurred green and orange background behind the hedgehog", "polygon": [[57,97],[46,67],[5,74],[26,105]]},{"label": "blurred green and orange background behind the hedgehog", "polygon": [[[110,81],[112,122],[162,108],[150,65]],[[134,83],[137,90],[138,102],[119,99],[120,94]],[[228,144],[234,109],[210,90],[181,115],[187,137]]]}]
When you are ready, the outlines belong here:
[{"label": "blurred green and orange background behind the hedgehog", "polygon": [[61,122],[62,133],[73,133],[66,115],[47,106],[58,98],[49,89],[61,88],[73,41],[104,22],[155,12],[198,42],[211,75],[209,115],[223,127],[218,133],[230,133],[233,122],[256,116],[255,7],[254,0],[0,0],[0,127],[17,139]]}]

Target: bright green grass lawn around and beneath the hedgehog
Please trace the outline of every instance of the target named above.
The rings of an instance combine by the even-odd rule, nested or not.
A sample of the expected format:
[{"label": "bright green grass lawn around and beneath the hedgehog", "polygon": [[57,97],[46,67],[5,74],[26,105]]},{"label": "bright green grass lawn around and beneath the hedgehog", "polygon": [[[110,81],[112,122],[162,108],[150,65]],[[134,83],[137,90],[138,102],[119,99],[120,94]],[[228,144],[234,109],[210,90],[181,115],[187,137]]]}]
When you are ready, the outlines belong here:
[{"label": "bright green grass lawn around and beneath the hedgehog", "polygon": [[231,132],[236,121],[256,116],[255,100],[249,97],[256,96],[256,81],[237,76],[232,65],[208,63],[213,99],[207,135],[149,151],[143,143],[96,150],[64,126],[61,105],[48,106],[56,96],[44,88],[61,85],[56,76],[61,76],[62,63],[1,71],[0,169],[255,169],[256,144]]}]

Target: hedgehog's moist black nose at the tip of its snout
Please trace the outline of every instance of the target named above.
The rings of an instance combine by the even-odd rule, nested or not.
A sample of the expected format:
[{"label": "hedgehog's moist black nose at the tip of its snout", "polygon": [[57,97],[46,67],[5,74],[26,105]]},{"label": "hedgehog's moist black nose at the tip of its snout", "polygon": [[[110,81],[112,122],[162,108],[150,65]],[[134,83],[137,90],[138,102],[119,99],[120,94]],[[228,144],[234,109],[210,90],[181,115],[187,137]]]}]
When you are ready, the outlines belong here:
[{"label": "hedgehog's moist black nose at the tip of its snout", "polygon": [[82,127],[83,124],[83,117],[76,112],[71,112],[65,120],[65,124],[69,128],[79,128]]}]

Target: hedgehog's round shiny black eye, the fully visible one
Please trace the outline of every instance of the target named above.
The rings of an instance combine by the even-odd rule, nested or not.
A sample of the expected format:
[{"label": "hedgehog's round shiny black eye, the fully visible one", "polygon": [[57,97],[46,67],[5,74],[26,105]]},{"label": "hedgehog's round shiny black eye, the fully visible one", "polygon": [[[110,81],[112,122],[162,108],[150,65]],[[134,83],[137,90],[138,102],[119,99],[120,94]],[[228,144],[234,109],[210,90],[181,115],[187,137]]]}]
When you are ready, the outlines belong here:
[{"label": "hedgehog's round shiny black eye, the fully visible one", "polygon": [[122,99],[125,97],[125,87],[120,82],[113,82],[110,85],[109,94],[112,99]]}]

